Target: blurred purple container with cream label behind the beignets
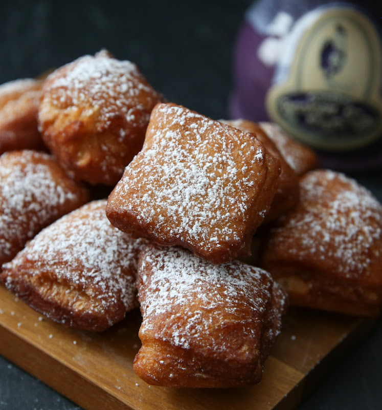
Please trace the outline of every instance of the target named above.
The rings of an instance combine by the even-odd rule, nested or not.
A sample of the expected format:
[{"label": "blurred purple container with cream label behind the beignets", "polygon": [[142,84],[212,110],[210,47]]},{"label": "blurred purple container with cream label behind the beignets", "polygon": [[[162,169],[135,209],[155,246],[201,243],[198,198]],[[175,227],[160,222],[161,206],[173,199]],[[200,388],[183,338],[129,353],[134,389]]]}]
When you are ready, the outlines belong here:
[{"label": "blurred purple container with cream label behind the beignets", "polygon": [[277,122],[328,168],[382,165],[375,3],[255,2],[237,39],[231,118]]}]

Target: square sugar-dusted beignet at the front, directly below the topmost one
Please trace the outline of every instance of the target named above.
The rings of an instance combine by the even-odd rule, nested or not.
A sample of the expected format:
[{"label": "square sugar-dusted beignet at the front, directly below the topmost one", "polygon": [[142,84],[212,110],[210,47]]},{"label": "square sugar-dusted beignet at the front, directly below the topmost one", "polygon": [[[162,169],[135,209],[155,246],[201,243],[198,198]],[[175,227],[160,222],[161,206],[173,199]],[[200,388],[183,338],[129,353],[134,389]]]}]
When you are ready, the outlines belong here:
[{"label": "square sugar-dusted beignet at the front, directly below the topmost one", "polygon": [[287,297],[267,272],[147,245],[137,276],[143,321],[134,371],[168,387],[258,383]]}]

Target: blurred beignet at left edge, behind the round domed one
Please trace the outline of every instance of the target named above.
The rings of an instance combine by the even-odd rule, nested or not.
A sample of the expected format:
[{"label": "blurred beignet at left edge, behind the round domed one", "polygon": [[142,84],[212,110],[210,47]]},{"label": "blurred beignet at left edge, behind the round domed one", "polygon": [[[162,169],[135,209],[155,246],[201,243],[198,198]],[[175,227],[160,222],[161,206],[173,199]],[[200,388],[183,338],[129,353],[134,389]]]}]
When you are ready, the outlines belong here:
[{"label": "blurred beignet at left edge, behind the round domed one", "polygon": [[0,86],[0,155],[45,149],[37,127],[41,80],[23,78]]}]

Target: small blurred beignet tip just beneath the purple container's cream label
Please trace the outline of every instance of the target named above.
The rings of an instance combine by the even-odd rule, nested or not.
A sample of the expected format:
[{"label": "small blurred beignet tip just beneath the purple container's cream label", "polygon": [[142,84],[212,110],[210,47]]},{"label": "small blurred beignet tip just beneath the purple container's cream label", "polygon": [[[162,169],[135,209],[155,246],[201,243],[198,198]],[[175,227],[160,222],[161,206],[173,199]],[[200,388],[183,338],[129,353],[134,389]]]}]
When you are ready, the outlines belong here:
[{"label": "small blurred beignet tip just beneath the purple container's cream label", "polygon": [[259,122],[259,126],[272,139],[286,162],[298,175],[303,175],[317,167],[316,152],[291,138],[278,124],[264,121]]}]

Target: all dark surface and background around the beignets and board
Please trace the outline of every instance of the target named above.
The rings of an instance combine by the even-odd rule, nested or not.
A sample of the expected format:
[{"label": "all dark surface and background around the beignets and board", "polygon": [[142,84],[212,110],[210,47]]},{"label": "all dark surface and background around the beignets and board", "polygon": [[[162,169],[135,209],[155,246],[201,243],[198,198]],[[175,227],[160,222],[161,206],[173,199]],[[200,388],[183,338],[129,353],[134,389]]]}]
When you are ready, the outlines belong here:
[{"label": "all dark surface and background around the beignets and board", "polygon": [[[36,2],[2,5],[0,83],[106,48],[138,64],[168,100],[227,117],[235,36],[250,1]],[[382,172],[354,174],[382,200]],[[299,410],[382,408],[382,323]],[[0,410],[74,410],[74,403],[0,358]]]}]

